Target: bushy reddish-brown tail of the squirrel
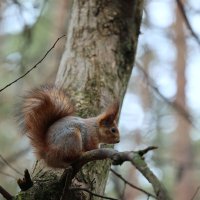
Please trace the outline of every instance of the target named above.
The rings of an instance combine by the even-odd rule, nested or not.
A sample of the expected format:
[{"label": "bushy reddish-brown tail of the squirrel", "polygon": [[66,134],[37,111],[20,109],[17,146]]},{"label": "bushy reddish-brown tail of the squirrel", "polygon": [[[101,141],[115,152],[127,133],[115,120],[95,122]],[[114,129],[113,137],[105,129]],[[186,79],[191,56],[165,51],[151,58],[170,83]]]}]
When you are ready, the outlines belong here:
[{"label": "bushy reddish-brown tail of the squirrel", "polygon": [[59,119],[74,113],[69,97],[55,86],[42,86],[30,91],[23,100],[20,123],[23,133],[40,154],[47,148],[48,128]]}]

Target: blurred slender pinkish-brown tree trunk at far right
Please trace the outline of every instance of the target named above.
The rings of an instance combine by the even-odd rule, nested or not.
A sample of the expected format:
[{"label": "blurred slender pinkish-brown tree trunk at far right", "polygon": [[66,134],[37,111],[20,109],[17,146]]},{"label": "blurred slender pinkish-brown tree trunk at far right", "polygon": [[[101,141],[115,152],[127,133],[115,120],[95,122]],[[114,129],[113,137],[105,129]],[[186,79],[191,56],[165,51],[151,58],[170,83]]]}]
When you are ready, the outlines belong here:
[{"label": "blurred slender pinkish-brown tree trunk at far right", "polygon": [[[184,1],[182,1],[184,3]],[[186,54],[187,46],[185,41],[184,21],[179,9],[176,9],[175,23],[175,44],[177,48],[176,72],[177,72],[177,94],[176,102],[187,110],[186,105]],[[175,154],[174,159],[177,162],[177,175],[175,185],[175,199],[191,199],[195,192],[194,179],[192,172],[192,145],[190,139],[190,124],[179,114],[177,114],[177,129],[175,132]]]}]

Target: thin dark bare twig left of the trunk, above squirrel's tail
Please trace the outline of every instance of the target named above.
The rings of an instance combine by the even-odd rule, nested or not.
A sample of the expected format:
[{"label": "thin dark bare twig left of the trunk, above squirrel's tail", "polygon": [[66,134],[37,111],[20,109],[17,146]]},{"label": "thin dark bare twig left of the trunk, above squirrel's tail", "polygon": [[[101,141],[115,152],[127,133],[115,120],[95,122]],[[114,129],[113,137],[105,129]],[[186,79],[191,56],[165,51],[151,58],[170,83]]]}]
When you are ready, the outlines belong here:
[{"label": "thin dark bare twig left of the trunk, above squirrel's tail", "polygon": [[4,86],[3,88],[0,89],[0,92],[2,92],[3,90],[5,90],[7,87],[11,86],[12,84],[16,83],[17,81],[19,81],[20,79],[22,79],[23,77],[25,77],[27,74],[29,74],[34,68],[36,68],[45,58],[46,56],[49,54],[49,52],[56,46],[57,42],[61,39],[65,37],[65,35],[59,37],[53,44],[53,46],[45,53],[45,55],[42,57],[42,59],[40,59],[33,67],[31,67],[28,71],[26,71],[22,76],[18,77],[16,80],[10,82],[9,84],[7,84],[6,86]]}]

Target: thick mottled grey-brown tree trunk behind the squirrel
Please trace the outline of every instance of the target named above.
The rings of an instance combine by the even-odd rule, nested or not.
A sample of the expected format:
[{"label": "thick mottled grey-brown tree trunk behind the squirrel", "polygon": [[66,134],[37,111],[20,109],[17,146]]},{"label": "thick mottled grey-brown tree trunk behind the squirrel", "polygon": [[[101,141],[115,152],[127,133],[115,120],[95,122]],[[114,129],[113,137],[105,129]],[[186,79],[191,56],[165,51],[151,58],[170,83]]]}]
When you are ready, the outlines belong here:
[{"label": "thick mottled grey-brown tree trunk behind the squirrel", "polygon": [[[142,0],[74,0],[56,85],[72,96],[80,116],[95,116],[116,98],[122,101],[133,67],[142,10]],[[91,162],[77,174],[73,185],[102,195],[109,167],[109,160]],[[60,171],[47,171],[38,165],[34,174],[34,186],[19,193],[18,199],[60,198],[64,187]],[[68,199],[89,199],[89,195],[76,192]]]}]

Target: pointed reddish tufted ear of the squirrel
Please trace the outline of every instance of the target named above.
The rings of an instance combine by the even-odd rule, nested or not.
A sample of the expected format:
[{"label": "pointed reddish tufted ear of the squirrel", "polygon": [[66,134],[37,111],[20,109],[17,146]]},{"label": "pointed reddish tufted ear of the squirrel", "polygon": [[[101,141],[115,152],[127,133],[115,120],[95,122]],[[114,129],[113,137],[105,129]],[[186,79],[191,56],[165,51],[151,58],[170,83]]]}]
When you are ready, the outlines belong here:
[{"label": "pointed reddish tufted ear of the squirrel", "polygon": [[119,101],[115,101],[107,110],[99,116],[99,124],[102,126],[112,125],[119,112]]}]

